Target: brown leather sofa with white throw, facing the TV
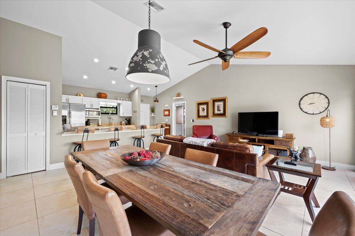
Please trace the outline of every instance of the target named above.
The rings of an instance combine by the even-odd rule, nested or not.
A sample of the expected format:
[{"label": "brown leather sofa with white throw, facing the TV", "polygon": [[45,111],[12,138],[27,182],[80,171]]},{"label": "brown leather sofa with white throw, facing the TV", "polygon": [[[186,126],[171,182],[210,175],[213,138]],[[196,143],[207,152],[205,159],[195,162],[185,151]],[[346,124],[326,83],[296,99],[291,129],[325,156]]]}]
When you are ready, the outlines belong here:
[{"label": "brown leather sofa with white throw, facing the TV", "polygon": [[212,147],[203,147],[182,142],[185,137],[165,135],[164,139],[157,139],[158,143],[171,145],[170,155],[184,158],[187,148],[218,154],[217,167],[240,173],[270,179],[266,164],[274,158],[272,154],[264,154],[260,158],[253,153],[250,144],[235,144],[216,142]]}]

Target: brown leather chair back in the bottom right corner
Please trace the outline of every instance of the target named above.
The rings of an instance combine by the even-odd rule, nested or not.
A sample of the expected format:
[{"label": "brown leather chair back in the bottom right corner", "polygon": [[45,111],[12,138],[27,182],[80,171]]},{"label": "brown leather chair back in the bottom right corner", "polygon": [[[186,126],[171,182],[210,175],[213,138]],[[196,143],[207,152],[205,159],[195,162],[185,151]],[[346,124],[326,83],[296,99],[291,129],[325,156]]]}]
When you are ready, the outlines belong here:
[{"label": "brown leather chair back in the bottom right corner", "polygon": [[344,192],[334,192],[319,211],[308,235],[355,235],[355,202]]}]

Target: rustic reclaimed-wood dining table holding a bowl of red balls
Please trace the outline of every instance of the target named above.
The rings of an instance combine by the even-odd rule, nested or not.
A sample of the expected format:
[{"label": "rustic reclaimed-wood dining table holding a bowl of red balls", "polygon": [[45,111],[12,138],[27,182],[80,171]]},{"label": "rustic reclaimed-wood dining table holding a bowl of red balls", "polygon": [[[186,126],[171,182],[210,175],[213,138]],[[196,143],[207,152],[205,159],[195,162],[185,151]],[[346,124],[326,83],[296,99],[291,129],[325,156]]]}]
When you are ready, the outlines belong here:
[{"label": "rustic reclaimed-wood dining table holding a bowl of red balls", "polygon": [[[280,183],[165,155],[132,166],[131,145],[71,155],[176,235],[256,235]],[[142,219],[144,220],[144,219]]]}]

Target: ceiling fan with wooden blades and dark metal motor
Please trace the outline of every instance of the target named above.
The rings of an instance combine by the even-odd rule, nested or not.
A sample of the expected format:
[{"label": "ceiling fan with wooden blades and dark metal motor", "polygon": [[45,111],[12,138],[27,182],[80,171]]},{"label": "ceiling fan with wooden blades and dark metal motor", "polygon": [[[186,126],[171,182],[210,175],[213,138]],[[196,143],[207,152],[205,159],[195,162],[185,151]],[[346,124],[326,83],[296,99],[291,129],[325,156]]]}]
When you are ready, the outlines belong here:
[{"label": "ceiling fan with wooden blades and dark metal motor", "polygon": [[240,40],[238,43],[234,44],[231,48],[227,48],[227,29],[231,26],[231,23],[223,22],[222,25],[225,28],[225,49],[219,50],[217,48],[213,48],[207,44],[204,44],[201,41],[193,40],[194,43],[197,43],[198,45],[201,45],[204,48],[207,48],[209,50],[215,51],[216,53],[218,53],[218,55],[206,60],[191,63],[189,65],[212,60],[219,57],[220,59],[222,59],[222,70],[224,71],[229,67],[229,62],[230,62],[229,60],[231,58],[260,59],[260,58],[266,58],[270,56],[271,53],[269,51],[241,51],[245,49],[247,46],[250,46],[251,44],[255,43],[257,40],[261,39],[265,34],[267,34],[267,28],[265,27],[258,28],[256,31],[252,32],[251,34],[247,35],[247,37]]}]

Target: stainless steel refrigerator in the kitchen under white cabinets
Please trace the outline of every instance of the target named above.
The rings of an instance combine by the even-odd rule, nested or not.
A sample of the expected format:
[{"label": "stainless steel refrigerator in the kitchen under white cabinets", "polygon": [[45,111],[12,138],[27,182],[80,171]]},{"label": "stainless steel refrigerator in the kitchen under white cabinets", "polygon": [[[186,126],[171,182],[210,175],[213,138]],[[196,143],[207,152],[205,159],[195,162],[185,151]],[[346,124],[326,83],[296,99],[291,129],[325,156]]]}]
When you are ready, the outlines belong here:
[{"label": "stainless steel refrigerator in the kitchen under white cabinets", "polygon": [[85,126],[85,105],[62,103],[62,125]]}]

